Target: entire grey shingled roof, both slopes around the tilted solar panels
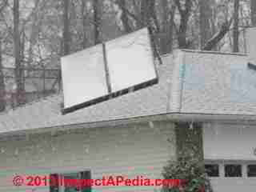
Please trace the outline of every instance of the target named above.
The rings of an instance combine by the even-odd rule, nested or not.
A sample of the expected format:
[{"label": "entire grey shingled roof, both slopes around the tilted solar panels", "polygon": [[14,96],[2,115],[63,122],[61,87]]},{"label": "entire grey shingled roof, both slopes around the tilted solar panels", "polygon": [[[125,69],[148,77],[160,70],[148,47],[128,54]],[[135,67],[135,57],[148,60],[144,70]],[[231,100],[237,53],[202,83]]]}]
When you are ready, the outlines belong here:
[{"label": "entire grey shingled roof, both slopes around the tilted solar panels", "polygon": [[[0,134],[159,114],[255,115],[256,71],[243,54],[176,50],[154,86],[62,115],[62,93],[0,114]],[[256,120],[256,118],[255,118]]]}]

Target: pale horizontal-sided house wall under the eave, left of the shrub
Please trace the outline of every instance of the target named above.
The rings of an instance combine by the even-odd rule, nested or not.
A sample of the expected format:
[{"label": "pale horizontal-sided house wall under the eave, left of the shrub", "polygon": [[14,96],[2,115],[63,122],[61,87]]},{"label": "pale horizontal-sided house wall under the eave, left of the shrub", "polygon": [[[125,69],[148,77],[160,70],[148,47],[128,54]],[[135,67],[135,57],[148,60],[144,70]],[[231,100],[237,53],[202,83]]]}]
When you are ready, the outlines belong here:
[{"label": "pale horizontal-sided house wall under the eave, left of the shrub", "polygon": [[[0,191],[32,191],[14,186],[14,175],[49,175],[91,170],[92,178],[144,175],[161,178],[162,166],[175,158],[174,125],[146,122],[126,126],[27,134],[0,142]],[[167,140],[173,142],[168,142]],[[27,180],[26,180],[27,182]],[[148,190],[156,187],[95,188],[94,191]],[[49,191],[49,186],[35,191]]]}]

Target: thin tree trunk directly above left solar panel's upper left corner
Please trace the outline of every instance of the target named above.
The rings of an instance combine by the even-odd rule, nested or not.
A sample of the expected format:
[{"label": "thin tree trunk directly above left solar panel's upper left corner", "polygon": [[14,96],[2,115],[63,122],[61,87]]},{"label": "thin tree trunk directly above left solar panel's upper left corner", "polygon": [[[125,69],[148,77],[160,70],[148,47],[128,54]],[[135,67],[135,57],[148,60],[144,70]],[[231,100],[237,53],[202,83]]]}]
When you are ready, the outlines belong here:
[{"label": "thin tree trunk directly above left solar panel's upper left corner", "polygon": [[64,55],[70,54],[70,18],[69,18],[69,6],[70,0],[64,1],[64,14],[63,14],[63,22],[64,22],[64,30],[63,30],[63,46],[64,46]]}]

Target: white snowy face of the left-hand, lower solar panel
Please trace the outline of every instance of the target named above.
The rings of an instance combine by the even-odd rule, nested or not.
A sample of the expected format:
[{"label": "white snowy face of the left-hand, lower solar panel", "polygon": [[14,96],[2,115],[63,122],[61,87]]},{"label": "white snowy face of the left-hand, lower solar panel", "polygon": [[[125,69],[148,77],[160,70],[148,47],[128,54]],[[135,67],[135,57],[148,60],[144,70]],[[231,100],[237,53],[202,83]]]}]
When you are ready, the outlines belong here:
[{"label": "white snowy face of the left-hand, lower solar panel", "polygon": [[108,94],[102,45],[62,58],[64,107]]}]

